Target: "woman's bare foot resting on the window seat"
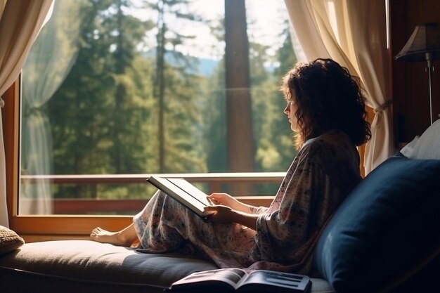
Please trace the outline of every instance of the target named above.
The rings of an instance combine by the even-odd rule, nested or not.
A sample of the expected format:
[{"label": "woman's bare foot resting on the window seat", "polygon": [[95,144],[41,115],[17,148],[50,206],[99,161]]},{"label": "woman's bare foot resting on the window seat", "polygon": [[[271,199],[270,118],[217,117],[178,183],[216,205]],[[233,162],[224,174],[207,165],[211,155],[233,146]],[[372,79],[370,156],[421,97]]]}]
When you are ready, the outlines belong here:
[{"label": "woman's bare foot resting on the window seat", "polygon": [[90,238],[96,242],[129,247],[137,239],[137,235],[134,227],[131,225],[117,232],[110,232],[97,227],[91,231]]}]

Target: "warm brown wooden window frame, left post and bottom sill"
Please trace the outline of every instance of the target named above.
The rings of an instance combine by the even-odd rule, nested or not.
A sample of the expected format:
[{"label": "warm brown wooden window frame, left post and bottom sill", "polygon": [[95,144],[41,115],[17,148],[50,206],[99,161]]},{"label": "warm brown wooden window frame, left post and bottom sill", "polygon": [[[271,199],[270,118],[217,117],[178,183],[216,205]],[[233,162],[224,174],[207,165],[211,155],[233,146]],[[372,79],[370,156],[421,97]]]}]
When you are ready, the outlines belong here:
[{"label": "warm brown wooden window frame, left post and bottom sill", "polygon": [[[120,230],[128,226],[132,216],[30,215],[18,214],[20,152],[20,79],[4,93],[2,111],[6,155],[6,201],[9,226],[27,242],[63,239],[87,239],[90,231],[101,226]],[[242,202],[268,205],[272,197],[240,197]]]}]

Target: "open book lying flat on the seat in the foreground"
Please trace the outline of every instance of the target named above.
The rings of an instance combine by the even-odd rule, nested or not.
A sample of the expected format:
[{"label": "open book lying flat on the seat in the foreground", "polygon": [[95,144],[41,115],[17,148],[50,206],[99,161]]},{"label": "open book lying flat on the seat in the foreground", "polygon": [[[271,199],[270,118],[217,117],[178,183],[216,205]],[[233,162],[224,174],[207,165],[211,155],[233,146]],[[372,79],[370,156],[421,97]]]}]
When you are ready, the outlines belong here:
[{"label": "open book lying flat on the seat in the foreground", "polygon": [[306,275],[257,270],[247,273],[240,268],[220,268],[192,273],[178,280],[167,292],[310,292]]}]

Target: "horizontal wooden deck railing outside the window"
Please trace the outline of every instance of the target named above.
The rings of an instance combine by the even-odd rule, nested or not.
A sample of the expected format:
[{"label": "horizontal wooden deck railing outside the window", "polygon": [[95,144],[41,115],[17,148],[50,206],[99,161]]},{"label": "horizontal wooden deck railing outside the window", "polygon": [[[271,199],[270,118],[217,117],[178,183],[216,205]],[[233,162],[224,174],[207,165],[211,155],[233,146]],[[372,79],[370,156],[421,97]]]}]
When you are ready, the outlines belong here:
[{"label": "horizontal wooden deck railing outside the window", "polygon": [[[265,173],[210,173],[210,174],[117,174],[117,175],[23,175],[22,184],[51,183],[55,185],[100,185],[100,184],[144,184],[151,175],[186,178],[191,183],[205,183],[207,193],[219,191],[223,184],[235,183],[280,183],[283,172]],[[266,204],[268,197],[240,196],[240,200],[254,205]],[[27,201],[27,200],[22,200]],[[32,200],[38,201],[38,200]],[[133,214],[141,210],[147,199],[103,200],[63,198],[51,200],[53,214]],[[25,202],[23,202],[24,204]]]}]

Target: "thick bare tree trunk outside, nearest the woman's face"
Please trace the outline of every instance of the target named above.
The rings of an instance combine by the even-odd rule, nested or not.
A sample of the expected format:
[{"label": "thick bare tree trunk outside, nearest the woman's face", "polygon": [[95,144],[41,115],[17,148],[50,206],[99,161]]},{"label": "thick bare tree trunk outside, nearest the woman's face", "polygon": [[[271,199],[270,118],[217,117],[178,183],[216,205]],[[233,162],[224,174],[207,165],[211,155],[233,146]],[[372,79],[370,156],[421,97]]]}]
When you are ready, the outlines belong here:
[{"label": "thick bare tree trunk outside, nearest the woman's face", "polygon": [[[225,70],[228,164],[232,172],[254,170],[249,41],[245,0],[225,0]],[[252,195],[251,186],[233,187],[235,195]]]}]

